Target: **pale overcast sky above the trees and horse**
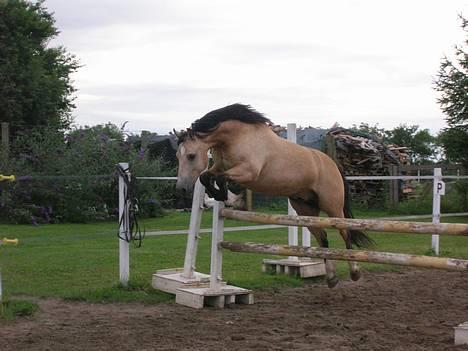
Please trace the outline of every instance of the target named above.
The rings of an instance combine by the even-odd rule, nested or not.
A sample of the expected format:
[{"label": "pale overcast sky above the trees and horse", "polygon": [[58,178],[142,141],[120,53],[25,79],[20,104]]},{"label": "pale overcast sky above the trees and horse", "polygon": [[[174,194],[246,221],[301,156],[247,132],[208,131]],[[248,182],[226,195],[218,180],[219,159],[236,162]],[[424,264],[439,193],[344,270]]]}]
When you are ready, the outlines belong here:
[{"label": "pale overcast sky above the trees and horse", "polygon": [[46,0],[79,125],[167,133],[241,102],[285,125],[445,126],[432,81],[466,1]]}]

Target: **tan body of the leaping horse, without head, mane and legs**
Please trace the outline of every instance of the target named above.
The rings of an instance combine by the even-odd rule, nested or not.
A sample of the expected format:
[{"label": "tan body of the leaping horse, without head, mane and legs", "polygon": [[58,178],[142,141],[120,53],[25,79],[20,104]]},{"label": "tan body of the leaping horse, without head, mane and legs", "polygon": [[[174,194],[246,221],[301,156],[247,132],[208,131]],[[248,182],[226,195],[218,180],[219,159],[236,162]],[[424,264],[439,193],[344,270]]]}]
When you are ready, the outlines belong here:
[{"label": "tan body of the leaping horse, without head, mane and legs", "polygon": [[[342,193],[341,174],[335,162],[319,150],[291,143],[267,125],[224,122],[226,168],[248,163],[258,177],[247,188],[270,195],[308,196],[310,192]],[[223,130],[220,128],[220,134]],[[227,135],[229,134],[229,137]],[[340,184],[341,182],[341,184]]]}]

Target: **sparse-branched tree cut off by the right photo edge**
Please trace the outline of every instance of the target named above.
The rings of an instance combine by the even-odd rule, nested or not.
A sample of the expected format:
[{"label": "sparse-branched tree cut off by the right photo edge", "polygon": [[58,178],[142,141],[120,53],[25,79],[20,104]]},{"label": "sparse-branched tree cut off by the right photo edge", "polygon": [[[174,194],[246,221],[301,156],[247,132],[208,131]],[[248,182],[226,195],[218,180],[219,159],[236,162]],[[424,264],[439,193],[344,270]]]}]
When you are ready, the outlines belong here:
[{"label": "sparse-branched tree cut off by the right photo edge", "polygon": [[[460,16],[462,29],[468,33],[468,21]],[[468,45],[468,36],[465,40]],[[434,80],[434,89],[440,92],[437,99],[446,115],[448,128],[439,134],[446,158],[468,167],[468,52],[455,46],[455,58],[442,59]]]}]

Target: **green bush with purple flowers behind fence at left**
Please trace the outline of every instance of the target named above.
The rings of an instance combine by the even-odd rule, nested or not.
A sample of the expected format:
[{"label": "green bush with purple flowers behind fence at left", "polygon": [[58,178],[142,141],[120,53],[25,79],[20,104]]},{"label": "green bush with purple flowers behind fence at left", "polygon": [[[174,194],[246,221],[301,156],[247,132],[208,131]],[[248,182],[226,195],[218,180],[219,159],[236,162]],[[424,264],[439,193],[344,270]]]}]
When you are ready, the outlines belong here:
[{"label": "green bush with purple flowers behind fence at left", "polygon": [[[12,223],[88,222],[116,217],[118,162],[129,162],[138,175],[173,172],[164,169],[160,160],[146,157],[145,150],[128,144],[122,131],[112,124],[78,128],[66,134],[47,128],[17,134],[11,154],[8,167],[17,181],[1,184],[7,195],[0,216]],[[168,196],[174,184],[138,183],[142,214],[162,215],[161,198]]]}]

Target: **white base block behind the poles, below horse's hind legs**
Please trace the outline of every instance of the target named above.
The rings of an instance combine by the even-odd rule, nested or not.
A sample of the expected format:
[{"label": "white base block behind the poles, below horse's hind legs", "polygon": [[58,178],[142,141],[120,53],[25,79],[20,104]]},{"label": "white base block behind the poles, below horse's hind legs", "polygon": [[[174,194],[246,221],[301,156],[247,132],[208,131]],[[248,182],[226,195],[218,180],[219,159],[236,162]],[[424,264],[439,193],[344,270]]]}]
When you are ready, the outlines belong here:
[{"label": "white base block behind the poles, below horse's hind legs", "polygon": [[301,278],[321,277],[326,275],[325,263],[322,260],[263,260],[262,272],[276,272]]}]

